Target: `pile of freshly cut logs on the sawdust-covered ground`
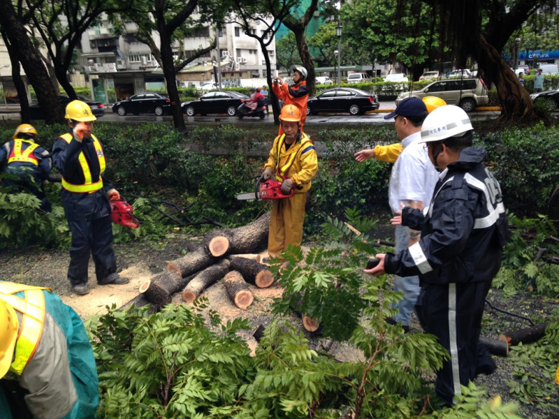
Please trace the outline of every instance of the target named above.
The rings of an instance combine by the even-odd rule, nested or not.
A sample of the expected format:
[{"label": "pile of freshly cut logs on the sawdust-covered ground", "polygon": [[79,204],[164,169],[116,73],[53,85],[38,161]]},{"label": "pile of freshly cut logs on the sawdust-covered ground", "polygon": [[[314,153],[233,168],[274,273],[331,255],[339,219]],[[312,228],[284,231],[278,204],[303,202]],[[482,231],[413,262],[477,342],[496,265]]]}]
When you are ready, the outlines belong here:
[{"label": "pile of freshly cut logs on the sawdust-covered ground", "polygon": [[274,282],[268,265],[243,256],[267,243],[269,223],[268,212],[246,226],[213,230],[186,256],[171,260],[166,272],[141,284],[140,295],[158,308],[170,303],[177,292],[182,300],[193,302],[223,279],[233,304],[246,309],[254,299],[247,283],[266,288]]}]

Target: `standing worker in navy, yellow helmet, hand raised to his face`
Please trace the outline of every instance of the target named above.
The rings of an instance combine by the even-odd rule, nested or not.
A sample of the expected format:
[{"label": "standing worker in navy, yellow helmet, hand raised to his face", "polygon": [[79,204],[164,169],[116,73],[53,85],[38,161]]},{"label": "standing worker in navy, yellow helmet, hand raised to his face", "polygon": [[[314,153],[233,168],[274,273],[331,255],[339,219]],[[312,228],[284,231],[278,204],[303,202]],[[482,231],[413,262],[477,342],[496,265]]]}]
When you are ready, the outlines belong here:
[{"label": "standing worker in navy, yellow helmet, hand raised to his face", "polygon": [[89,293],[87,267],[89,253],[95,263],[97,284],[127,284],[117,274],[112,250],[109,200],[119,200],[118,191],[105,178],[103,145],[93,135],[96,117],[87,103],[66,105],[68,131],[52,147],[52,162],[62,174],[62,205],[72,233],[68,280],[74,293]]}]

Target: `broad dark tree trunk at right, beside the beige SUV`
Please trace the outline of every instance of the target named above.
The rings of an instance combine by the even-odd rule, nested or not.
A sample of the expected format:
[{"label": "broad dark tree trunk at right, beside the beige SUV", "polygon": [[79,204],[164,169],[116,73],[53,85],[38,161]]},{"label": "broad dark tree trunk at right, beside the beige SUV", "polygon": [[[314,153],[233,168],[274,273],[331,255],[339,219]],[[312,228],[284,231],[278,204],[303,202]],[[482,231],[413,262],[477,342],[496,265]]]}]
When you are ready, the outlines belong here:
[{"label": "broad dark tree trunk at right, beside the beige SUV", "polygon": [[484,71],[484,80],[488,83],[488,88],[491,87],[491,83],[494,83],[497,88],[502,107],[501,119],[507,121],[538,119],[528,90],[518,82],[514,71],[510,70],[499,52],[481,34],[479,42],[474,47],[474,57]]}]

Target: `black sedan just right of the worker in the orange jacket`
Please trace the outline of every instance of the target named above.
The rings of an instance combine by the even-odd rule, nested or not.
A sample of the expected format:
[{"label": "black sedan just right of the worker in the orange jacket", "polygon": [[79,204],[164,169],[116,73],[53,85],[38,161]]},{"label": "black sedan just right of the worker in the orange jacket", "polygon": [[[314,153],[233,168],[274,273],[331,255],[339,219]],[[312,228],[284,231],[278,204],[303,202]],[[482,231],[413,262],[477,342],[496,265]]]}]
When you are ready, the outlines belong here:
[{"label": "black sedan just right of the worker in the orange jacket", "polygon": [[351,87],[327,89],[307,101],[307,115],[315,115],[319,112],[349,112],[351,115],[363,115],[368,110],[378,108],[377,95]]}]

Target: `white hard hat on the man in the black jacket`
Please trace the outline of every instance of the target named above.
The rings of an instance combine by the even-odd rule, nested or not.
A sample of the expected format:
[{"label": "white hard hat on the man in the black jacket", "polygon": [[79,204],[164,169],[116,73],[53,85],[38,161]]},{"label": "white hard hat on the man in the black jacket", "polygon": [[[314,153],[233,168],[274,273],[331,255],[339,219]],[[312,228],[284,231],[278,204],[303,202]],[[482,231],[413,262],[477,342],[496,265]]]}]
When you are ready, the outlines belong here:
[{"label": "white hard hat on the man in the black jacket", "polygon": [[421,142],[459,137],[474,129],[467,113],[456,105],[445,105],[427,115],[421,126]]}]

